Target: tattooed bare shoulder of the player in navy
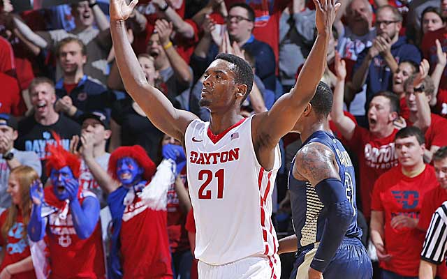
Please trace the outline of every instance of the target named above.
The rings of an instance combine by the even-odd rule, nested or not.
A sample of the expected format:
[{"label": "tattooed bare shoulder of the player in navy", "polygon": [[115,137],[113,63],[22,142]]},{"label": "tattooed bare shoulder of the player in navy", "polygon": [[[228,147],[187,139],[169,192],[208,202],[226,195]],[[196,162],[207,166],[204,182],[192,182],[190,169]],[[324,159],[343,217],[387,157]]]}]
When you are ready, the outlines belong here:
[{"label": "tattooed bare shoulder of the player in navy", "polygon": [[335,154],[328,146],[311,143],[298,151],[295,166],[301,176],[316,186],[323,179],[339,179],[338,169],[334,162]]}]

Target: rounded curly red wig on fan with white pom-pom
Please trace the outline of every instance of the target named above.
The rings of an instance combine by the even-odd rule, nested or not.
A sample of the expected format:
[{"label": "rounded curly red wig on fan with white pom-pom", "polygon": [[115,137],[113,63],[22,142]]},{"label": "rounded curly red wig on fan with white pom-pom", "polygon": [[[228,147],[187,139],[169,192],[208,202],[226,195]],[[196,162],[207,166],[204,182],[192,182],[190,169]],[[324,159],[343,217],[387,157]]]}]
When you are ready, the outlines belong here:
[{"label": "rounded curly red wig on fan with white pom-pom", "polygon": [[113,151],[109,159],[108,172],[113,179],[119,180],[117,176],[117,163],[118,160],[124,157],[133,158],[140,167],[144,170],[142,177],[146,181],[150,181],[155,173],[156,166],[152,162],[151,158],[147,156],[145,149],[140,145],[134,146],[121,146]]}]

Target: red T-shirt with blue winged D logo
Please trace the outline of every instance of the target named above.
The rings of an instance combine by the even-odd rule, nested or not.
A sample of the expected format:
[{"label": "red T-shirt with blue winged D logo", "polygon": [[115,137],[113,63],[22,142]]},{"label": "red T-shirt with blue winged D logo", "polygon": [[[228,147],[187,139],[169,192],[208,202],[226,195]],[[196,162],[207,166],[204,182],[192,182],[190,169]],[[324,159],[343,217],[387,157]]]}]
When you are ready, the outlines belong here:
[{"label": "red T-shirt with blue winged D logo", "polygon": [[385,248],[393,255],[388,262],[380,266],[401,276],[418,276],[420,251],[425,233],[417,227],[411,229],[391,227],[395,216],[419,218],[425,193],[437,187],[434,167],[425,165],[424,171],[415,177],[402,174],[400,166],[390,169],[377,179],[372,193],[374,211],[383,211],[385,216]]}]

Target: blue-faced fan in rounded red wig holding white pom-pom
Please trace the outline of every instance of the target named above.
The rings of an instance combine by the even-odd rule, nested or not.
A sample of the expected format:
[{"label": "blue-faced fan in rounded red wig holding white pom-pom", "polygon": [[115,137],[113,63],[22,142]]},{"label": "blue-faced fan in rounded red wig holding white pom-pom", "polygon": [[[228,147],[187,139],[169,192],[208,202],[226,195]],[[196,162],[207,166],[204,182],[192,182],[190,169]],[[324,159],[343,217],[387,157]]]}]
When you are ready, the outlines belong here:
[{"label": "blue-faced fan in rounded red wig holding white pom-pom", "polygon": [[[141,146],[121,146],[110,155],[108,172],[121,185],[109,188],[107,200],[113,227],[108,278],[173,278],[166,204],[169,176],[175,176],[161,172],[166,164],[170,171],[162,160],[152,177],[155,164]],[[160,176],[168,183],[160,184]]]}]

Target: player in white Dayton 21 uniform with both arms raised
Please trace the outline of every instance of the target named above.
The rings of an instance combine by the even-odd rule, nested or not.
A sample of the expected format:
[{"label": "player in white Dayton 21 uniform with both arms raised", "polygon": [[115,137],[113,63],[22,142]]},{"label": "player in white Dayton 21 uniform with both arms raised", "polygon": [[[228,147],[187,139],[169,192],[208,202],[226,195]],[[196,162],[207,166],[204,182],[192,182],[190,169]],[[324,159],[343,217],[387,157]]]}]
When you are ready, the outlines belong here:
[{"label": "player in white Dayton 21 uniform with both arms raised", "polygon": [[199,278],[279,278],[278,242],[270,221],[272,188],[281,165],[278,142],[293,128],[323,76],[339,3],[314,0],[316,42],[295,88],[270,112],[248,119],[240,115],[253,84],[251,67],[237,56],[219,54],[205,72],[200,99],[211,112],[210,122],[175,109],[146,82],[124,23],[136,3],[110,1],[117,65],[126,91],[149,120],[185,147]]}]

